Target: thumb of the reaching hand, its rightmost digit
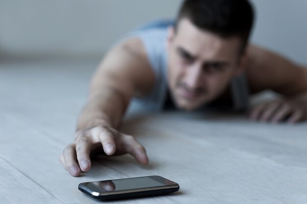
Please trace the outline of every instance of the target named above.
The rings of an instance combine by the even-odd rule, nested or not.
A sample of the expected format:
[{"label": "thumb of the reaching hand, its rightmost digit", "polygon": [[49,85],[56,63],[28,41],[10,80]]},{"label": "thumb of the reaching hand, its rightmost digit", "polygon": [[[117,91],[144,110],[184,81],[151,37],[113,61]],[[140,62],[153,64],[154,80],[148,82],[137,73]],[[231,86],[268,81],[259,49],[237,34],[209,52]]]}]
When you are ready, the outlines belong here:
[{"label": "thumb of the reaching hand, its rightmost digit", "polygon": [[123,134],[123,142],[126,144],[124,147],[127,153],[131,154],[139,163],[148,164],[148,156],[145,148],[134,137]]}]

